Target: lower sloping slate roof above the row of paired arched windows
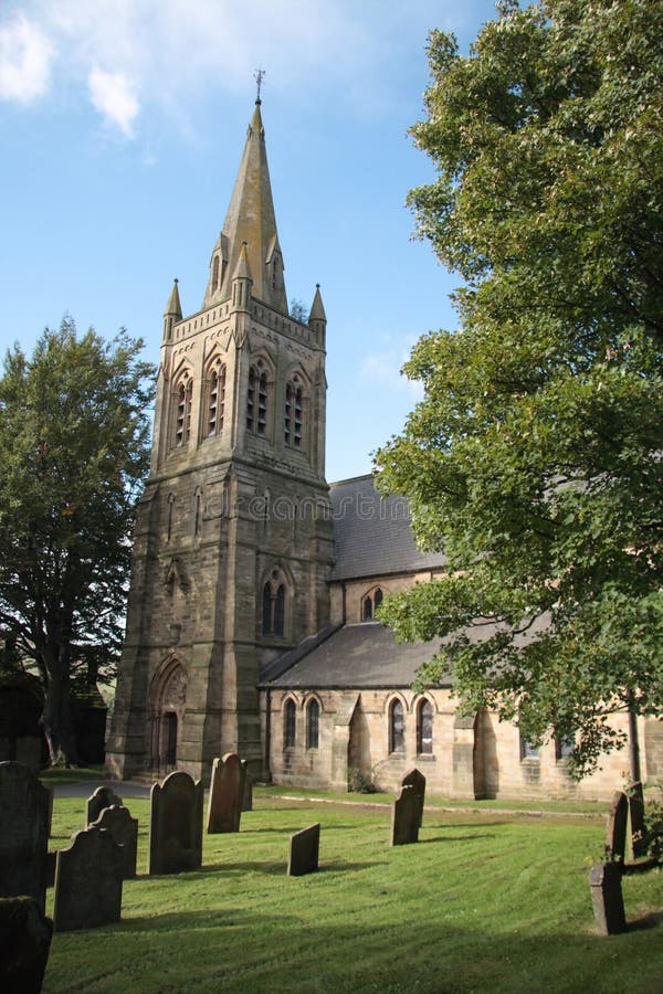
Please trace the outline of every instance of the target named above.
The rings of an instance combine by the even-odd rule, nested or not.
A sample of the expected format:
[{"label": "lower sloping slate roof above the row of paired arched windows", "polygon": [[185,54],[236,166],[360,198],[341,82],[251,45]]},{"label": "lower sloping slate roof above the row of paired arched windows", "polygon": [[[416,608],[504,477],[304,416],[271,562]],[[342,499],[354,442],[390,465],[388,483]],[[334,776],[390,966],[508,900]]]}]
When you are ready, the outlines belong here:
[{"label": "lower sloping slate roof above the row of paired arched windows", "polygon": [[[409,687],[441,642],[398,645],[380,622],[328,625],[284,653],[263,673],[261,686],[306,689]],[[451,686],[442,680],[440,686]]]}]

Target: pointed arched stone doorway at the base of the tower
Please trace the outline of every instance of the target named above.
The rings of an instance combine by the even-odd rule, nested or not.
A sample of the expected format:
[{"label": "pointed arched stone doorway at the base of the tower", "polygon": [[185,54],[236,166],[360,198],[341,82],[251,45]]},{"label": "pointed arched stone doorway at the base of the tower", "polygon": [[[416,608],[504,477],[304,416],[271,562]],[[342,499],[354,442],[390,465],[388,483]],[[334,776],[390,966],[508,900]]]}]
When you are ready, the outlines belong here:
[{"label": "pointed arched stone doorway at the base of the tower", "polygon": [[150,698],[150,770],[165,776],[177,769],[185,720],[187,674],[179,659],[161,668]]}]

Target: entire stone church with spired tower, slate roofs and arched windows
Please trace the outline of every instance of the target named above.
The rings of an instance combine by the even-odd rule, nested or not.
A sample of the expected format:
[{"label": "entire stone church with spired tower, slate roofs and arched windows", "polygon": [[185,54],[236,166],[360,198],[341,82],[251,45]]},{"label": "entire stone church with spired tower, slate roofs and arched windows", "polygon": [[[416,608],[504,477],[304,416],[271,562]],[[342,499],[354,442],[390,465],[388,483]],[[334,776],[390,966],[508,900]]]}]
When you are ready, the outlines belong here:
[{"label": "entire stone church with spired tower, slate roofs and arched windows", "polygon": [[[126,641],[107,743],[117,778],[208,778],[238,751],[282,784],[393,787],[417,765],[454,797],[609,797],[624,753],[575,785],[565,743],[456,713],[411,689],[435,644],[397,645],[385,594],[444,570],[403,498],[325,479],[326,315],[288,313],[260,98],[201,309],[164,315],[151,469],[138,506]],[[642,721],[643,776],[663,775]]]}]

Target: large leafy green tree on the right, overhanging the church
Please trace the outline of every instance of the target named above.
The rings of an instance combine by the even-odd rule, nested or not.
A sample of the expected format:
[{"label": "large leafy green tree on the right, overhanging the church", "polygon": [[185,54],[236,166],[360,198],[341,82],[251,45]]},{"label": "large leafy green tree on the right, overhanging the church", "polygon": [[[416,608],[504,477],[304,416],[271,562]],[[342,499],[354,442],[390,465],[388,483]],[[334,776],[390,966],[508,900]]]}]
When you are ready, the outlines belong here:
[{"label": "large leafy green tree on the right, overhanging the church", "polygon": [[410,202],[461,327],[414,348],[424,399],[376,467],[449,573],[382,618],[445,637],[422,684],[577,737],[579,776],[608,715],[663,712],[663,8],[498,11],[467,56],[430,35]]}]

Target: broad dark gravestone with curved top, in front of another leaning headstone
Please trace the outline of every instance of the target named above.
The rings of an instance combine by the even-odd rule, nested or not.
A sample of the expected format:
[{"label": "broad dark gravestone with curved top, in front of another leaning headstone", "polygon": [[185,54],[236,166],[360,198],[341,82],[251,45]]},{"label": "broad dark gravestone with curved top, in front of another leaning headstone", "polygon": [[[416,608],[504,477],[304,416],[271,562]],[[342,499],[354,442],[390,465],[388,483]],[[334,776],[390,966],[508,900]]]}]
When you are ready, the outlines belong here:
[{"label": "broad dark gravestone with curved top, in front of another leaning headstone", "polygon": [[124,856],[101,828],[76,832],[57,853],[53,924],[56,932],[119,921]]}]

